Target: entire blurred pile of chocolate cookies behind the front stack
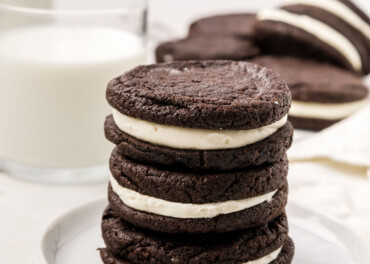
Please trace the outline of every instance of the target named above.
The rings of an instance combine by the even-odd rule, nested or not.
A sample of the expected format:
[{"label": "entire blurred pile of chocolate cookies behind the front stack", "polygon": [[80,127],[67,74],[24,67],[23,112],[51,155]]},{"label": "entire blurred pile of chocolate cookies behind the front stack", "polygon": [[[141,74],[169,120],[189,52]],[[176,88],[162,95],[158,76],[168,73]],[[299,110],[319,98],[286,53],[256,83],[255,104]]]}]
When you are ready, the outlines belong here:
[{"label": "entire blurred pile of chocolate cookies behind the front stack", "polygon": [[293,126],[319,131],[368,104],[361,78],[370,73],[370,18],[350,0],[285,0],[257,14],[194,21],[186,38],[160,44],[156,59],[271,67],[292,89]]}]

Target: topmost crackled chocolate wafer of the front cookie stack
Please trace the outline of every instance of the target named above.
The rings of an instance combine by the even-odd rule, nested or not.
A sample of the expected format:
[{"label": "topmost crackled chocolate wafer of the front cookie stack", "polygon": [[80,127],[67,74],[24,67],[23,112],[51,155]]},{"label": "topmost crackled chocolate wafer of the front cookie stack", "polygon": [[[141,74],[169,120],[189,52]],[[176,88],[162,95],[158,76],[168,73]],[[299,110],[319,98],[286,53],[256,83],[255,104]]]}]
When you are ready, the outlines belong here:
[{"label": "topmost crackled chocolate wafer of the front cookie stack", "polygon": [[157,124],[248,130],[286,116],[291,95],[274,71],[255,64],[188,61],[136,67],[109,83],[107,100]]}]

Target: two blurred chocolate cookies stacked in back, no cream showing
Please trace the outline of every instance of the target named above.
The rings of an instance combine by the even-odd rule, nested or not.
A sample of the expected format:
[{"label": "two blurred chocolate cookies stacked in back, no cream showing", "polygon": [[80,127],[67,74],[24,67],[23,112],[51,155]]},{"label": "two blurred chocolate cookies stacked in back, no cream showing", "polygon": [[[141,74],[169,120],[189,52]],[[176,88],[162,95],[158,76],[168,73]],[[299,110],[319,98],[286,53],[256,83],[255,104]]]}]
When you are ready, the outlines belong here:
[{"label": "two blurred chocolate cookies stacked in back, no cream showing", "polygon": [[253,43],[254,14],[207,17],[193,22],[184,39],[160,44],[157,62],[185,60],[246,60],[260,54]]}]

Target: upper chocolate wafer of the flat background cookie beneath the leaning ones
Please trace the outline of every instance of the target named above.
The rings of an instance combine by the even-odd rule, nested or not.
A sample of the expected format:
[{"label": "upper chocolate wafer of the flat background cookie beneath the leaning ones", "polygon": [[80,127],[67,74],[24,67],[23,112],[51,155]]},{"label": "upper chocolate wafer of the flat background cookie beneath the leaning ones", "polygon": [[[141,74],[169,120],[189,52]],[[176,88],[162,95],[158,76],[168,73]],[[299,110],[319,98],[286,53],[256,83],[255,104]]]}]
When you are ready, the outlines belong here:
[{"label": "upper chocolate wafer of the flat background cookie beneath the leaning ones", "polygon": [[348,103],[368,95],[360,77],[326,63],[277,56],[258,57],[252,62],[279,73],[287,82],[293,101]]}]

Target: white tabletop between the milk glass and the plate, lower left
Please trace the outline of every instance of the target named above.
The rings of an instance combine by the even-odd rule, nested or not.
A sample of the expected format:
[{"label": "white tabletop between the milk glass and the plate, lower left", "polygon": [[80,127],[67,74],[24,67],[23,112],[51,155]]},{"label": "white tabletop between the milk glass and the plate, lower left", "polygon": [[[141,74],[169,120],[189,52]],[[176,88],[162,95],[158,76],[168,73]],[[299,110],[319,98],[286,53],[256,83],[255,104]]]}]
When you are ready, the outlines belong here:
[{"label": "white tabletop between the milk glass and the plate, lower left", "polygon": [[62,212],[104,196],[106,186],[43,185],[0,173],[0,263],[38,264],[45,228]]}]

